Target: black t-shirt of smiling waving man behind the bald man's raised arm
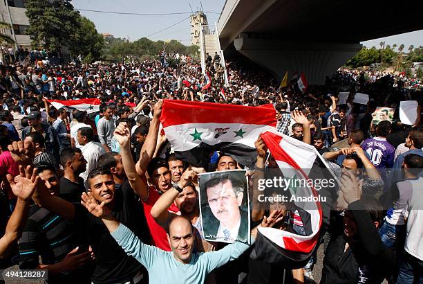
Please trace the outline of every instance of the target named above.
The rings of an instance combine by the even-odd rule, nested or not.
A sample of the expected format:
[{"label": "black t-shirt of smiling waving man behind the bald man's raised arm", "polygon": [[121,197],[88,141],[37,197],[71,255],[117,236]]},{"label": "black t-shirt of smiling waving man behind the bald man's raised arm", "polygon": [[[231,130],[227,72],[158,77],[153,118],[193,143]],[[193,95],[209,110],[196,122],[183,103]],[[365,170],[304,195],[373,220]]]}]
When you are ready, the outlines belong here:
[{"label": "black t-shirt of smiling waving man behind the bald man's raised arm", "polygon": [[[128,181],[115,190],[115,208],[113,216],[131,229],[142,242],[149,244],[149,229],[144,216],[144,209],[139,197],[135,195]],[[125,251],[113,239],[102,220],[86,211],[80,204],[75,204],[75,220],[88,235],[88,243],[93,248],[97,259],[93,272],[93,283],[120,283],[131,280],[144,267]]]}]

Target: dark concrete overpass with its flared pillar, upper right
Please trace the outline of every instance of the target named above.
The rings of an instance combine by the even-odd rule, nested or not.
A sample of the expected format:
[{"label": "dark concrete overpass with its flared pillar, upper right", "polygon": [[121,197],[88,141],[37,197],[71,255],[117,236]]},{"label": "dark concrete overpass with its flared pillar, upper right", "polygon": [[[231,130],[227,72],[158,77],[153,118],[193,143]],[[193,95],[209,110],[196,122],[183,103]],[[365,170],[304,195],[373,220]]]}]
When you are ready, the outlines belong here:
[{"label": "dark concrete overpass with its flared pillar, upper right", "polygon": [[234,46],[277,78],[304,72],[321,84],[359,42],[423,29],[422,10],[423,1],[227,0],[217,26],[223,50]]}]

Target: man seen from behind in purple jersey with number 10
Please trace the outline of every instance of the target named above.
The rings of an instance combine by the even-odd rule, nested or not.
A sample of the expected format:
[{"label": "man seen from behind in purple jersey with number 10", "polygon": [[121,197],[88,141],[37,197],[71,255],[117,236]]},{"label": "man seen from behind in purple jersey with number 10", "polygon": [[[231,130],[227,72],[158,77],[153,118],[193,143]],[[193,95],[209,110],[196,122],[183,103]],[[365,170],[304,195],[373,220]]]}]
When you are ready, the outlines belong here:
[{"label": "man seen from behind in purple jersey with number 10", "polygon": [[366,139],[361,148],[368,153],[370,161],[376,168],[392,168],[395,157],[395,148],[391,143],[386,141],[391,123],[389,121],[381,121],[376,127],[375,138]]}]

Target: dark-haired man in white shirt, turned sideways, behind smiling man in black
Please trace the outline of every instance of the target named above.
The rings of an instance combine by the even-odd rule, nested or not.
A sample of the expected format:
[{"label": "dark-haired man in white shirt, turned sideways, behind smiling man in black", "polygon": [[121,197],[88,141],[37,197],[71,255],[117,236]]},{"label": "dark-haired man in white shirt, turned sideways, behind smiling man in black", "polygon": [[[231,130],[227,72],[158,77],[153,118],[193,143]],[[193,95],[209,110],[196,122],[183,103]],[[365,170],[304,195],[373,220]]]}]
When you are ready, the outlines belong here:
[{"label": "dark-haired man in white shirt, turned sideways, behind smiling man in black", "polygon": [[85,188],[88,188],[88,175],[97,168],[98,160],[106,152],[103,145],[94,142],[93,139],[94,131],[91,127],[82,127],[77,131],[77,141],[81,145],[82,156],[86,159],[86,171],[79,175],[84,179]]}]

